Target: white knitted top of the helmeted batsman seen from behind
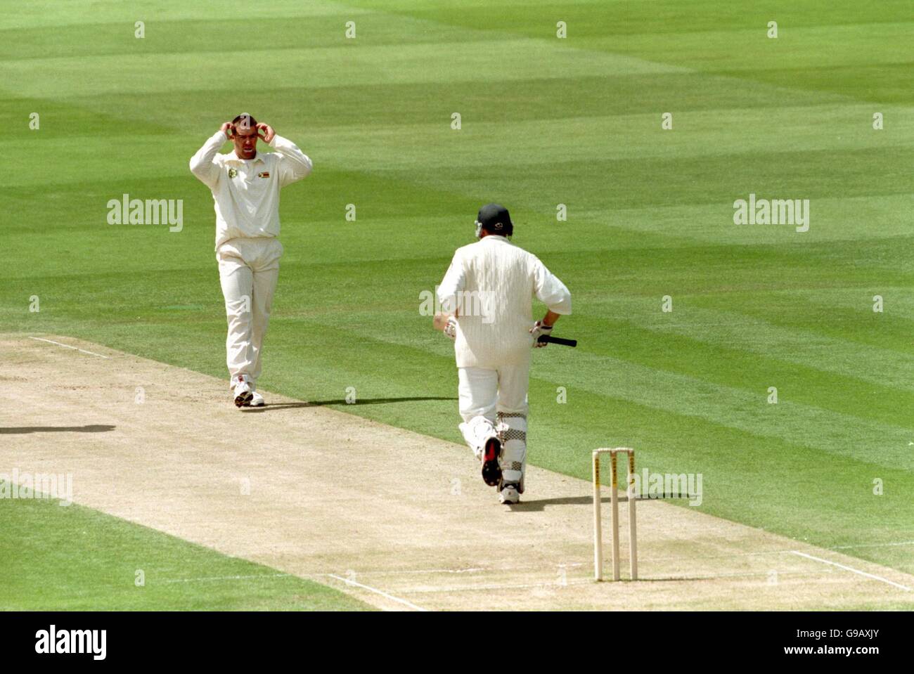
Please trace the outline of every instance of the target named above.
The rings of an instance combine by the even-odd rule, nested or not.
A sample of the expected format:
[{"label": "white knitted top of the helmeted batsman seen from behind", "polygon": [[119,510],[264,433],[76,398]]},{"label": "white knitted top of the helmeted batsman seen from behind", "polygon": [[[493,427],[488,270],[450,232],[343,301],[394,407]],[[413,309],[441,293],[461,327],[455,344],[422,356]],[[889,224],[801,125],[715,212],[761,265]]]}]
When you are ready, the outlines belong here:
[{"label": "white knitted top of the helmeted batsman seen from behind", "polygon": [[533,298],[571,313],[571,293],[537,256],[488,235],[458,248],[438,287],[444,311],[458,310],[457,367],[523,364],[530,358]]}]

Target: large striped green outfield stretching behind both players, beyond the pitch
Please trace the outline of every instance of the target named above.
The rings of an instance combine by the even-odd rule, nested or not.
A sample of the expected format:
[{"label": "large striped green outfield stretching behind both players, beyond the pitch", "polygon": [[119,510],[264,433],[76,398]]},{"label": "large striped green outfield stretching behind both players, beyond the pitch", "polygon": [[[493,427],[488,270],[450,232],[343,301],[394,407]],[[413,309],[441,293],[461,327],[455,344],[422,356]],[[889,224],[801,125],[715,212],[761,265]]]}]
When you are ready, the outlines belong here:
[{"label": "large striped green outfield stretching behind both players, beyond the pitch", "polygon": [[[420,292],[498,201],[515,243],[574,298],[556,332],[579,348],[535,357],[532,463],[587,478],[590,449],[632,446],[640,467],[701,473],[703,511],[914,573],[909,546],[889,544],[914,523],[909,2],[272,2],[254,14],[175,0],[0,13],[16,157],[0,186],[5,332],[226,376],[212,199],[187,161],[250,111],[314,160],[282,193],[261,388],[456,396],[451,342],[420,315]],[[183,231],[108,225],[106,203],[124,193],[183,199]],[[809,231],[734,225],[750,193],[809,199]],[[460,441],[454,400],[335,406]],[[271,606],[292,606],[282,596]]]}]

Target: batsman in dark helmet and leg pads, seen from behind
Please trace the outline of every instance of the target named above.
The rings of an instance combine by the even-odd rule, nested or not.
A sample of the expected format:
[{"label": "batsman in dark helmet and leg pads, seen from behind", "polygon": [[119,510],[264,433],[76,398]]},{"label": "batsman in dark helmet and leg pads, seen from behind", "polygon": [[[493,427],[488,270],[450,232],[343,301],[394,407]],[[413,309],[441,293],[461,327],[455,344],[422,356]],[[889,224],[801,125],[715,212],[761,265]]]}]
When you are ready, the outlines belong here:
[{"label": "batsman in dark helmet and leg pads, seen from behind", "polygon": [[[512,504],[524,493],[531,348],[546,346],[537,338],[571,313],[571,293],[508,240],[514,225],[504,206],[484,205],[475,225],[479,241],[457,249],[438,288],[434,325],[454,340],[463,438],[485,483]],[[548,308],[536,322],[534,297]]]}]

